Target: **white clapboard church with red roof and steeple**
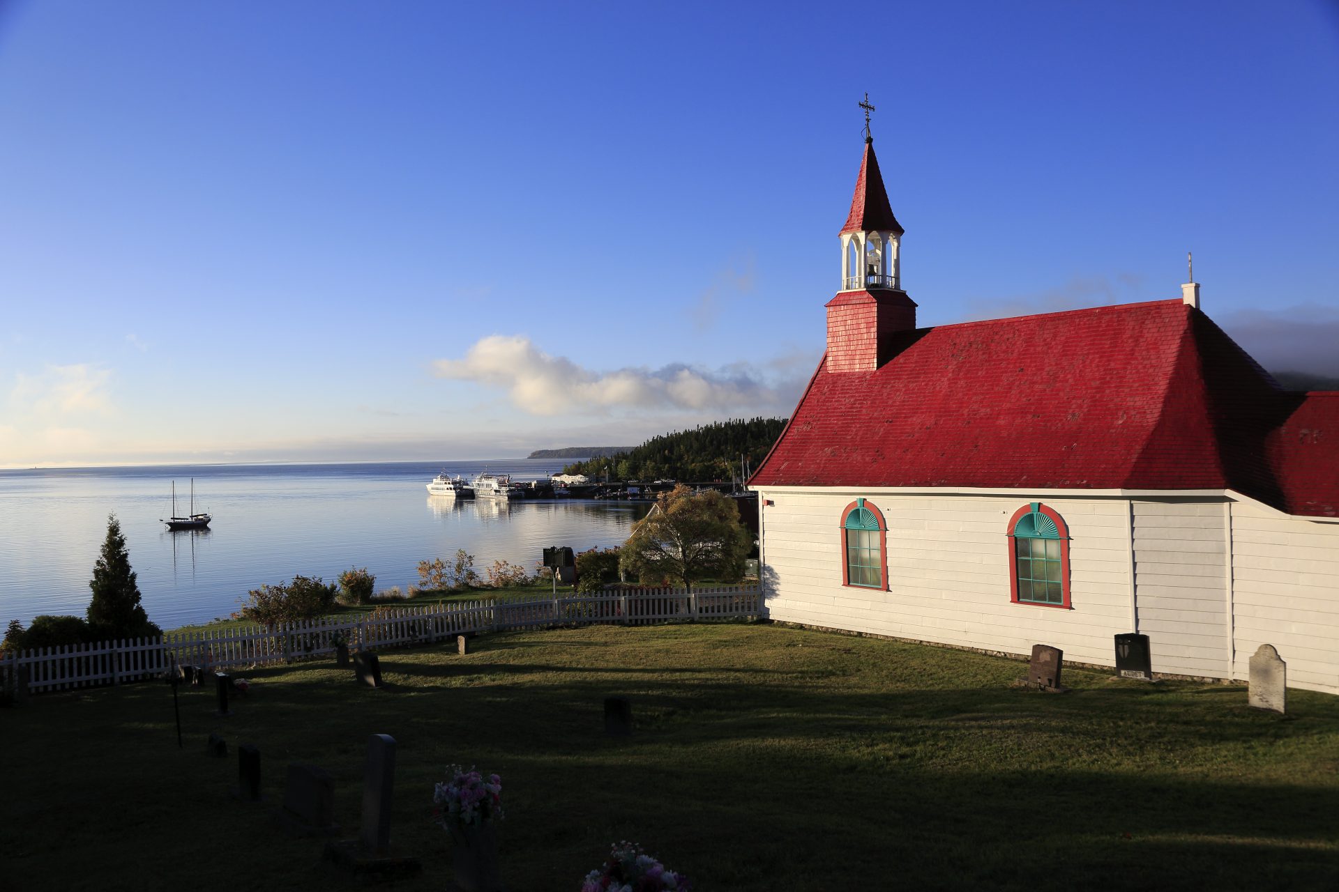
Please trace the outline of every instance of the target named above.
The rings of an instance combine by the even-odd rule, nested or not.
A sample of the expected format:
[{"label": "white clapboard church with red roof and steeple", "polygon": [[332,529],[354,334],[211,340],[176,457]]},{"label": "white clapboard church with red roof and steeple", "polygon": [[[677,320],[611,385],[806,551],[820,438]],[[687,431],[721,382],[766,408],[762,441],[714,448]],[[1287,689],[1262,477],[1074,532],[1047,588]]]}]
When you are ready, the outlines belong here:
[{"label": "white clapboard church with red roof and steeple", "polygon": [[828,352],[759,492],[777,621],[1339,693],[1339,392],[1182,297],[916,328],[866,138]]}]

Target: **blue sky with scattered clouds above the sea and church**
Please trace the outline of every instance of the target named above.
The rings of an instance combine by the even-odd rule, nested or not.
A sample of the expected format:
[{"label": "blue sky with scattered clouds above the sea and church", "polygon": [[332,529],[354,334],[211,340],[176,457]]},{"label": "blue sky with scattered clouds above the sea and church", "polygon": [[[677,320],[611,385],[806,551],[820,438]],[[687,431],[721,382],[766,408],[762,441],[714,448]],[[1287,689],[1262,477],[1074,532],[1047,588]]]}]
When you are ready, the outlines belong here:
[{"label": "blue sky with scattered clouds above the sea and church", "polygon": [[1332,3],[0,0],[0,467],[787,415],[862,118],[921,325],[1180,296],[1339,374]]}]

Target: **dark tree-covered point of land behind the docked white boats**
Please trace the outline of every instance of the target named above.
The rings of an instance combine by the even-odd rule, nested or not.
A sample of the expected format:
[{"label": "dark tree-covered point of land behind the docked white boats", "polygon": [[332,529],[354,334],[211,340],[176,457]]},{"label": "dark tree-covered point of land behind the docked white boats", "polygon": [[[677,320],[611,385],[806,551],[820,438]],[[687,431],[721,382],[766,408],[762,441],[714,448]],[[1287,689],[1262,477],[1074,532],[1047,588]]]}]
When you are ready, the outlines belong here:
[{"label": "dark tree-covered point of land behind the docked white boats", "polygon": [[766,457],[786,419],[731,419],[652,437],[609,459],[588,459],[562,468],[603,480],[730,480],[739,475],[739,456],[751,468]]}]

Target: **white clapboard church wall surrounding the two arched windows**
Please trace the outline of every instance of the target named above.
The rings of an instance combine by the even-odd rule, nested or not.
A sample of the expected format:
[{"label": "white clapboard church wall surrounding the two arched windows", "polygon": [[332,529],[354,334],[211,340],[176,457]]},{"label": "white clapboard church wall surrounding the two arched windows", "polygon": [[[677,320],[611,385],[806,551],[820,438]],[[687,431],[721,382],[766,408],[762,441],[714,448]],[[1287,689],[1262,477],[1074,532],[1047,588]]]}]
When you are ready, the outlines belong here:
[{"label": "white clapboard church wall surrounding the two arched windows", "polygon": [[1114,659],[1130,631],[1127,503],[1043,499],[1070,527],[1073,610],[1010,600],[1007,526],[1030,500],[1012,496],[865,495],[888,524],[886,591],[842,584],[842,511],[856,495],[766,492],[763,560],[771,619],[963,647],[1067,659]]}]

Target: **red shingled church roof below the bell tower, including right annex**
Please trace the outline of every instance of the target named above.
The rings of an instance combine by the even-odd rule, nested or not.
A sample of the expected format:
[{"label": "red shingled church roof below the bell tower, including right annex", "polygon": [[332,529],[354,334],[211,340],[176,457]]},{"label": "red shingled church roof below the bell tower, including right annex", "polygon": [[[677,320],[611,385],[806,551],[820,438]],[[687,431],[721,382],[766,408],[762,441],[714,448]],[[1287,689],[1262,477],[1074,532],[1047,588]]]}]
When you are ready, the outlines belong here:
[{"label": "red shingled church roof below the bell tower, including right annex", "polygon": [[753,485],[1236,489],[1339,516],[1339,395],[1281,391],[1178,300],[916,329],[880,353],[873,372],[823,357]]}]

